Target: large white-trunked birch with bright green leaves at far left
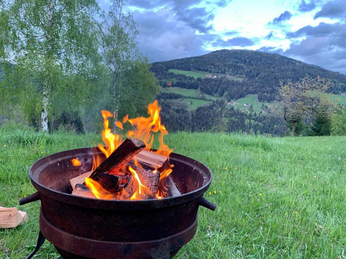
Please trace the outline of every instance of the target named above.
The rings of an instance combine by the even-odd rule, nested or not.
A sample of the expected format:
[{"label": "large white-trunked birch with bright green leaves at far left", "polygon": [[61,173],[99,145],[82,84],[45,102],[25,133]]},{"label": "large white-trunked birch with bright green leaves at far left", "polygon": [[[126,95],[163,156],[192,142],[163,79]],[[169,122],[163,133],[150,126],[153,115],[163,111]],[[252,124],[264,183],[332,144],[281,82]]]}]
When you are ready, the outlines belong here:
[{"label": "large white-trunked birch with bright green leaves at far left", "polygon": [[48,131],[53,92],[72,101],[88,92],[79,82],[94,76],[93,14],[98,4],[95,0],[2,2],[0,64],[6,78],[0,93],[14,98],[13,105],[30,100],[40,110],[41,129]]}]

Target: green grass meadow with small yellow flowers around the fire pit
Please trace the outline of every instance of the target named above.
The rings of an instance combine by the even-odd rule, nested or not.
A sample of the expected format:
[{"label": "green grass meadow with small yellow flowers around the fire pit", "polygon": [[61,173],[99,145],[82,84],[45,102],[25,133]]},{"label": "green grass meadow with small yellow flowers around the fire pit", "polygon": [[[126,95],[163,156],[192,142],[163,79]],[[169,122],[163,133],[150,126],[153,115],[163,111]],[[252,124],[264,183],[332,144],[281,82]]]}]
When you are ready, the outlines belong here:
[{"label": "green grass meadow with small yellow flowers around the fire pit", "polygon": [[[35,192],[37,159],[100,143],[99,135],[0,130],[0,206]],[[176,258],[337,258],[346,250],[346,138],[176,133],[166,143],[210,167],[196,236]],[[5,146],[6,145],[6,146]],[[173,172],[174,173],[174,172]],[[216,193],[214,193],[216,191]],[[29,221],[0,230],[0,258],[25,258],[39,230],[39,202],[18,206]],[[169,224],[169,222],[167,222]],[[47,241],[35,258],[55,259]]]}]

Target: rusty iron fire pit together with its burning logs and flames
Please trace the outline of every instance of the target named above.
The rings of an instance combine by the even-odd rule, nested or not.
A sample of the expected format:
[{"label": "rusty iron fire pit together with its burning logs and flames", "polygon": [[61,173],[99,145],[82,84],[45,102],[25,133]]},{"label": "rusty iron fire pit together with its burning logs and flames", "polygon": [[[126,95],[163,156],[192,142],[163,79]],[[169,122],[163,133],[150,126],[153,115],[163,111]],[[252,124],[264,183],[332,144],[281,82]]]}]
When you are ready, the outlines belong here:
[{"label": "rusty iron fire pit together with its burning logs and flames", "polygon": [[[215,210],[203,198],[210,170],[163,143],[157,101],[148,118],[128,119],[135,130],[111,133],[104,119],[106,147],[79,148],[36,161],[29,176],[37,192],[20,204],[41,200],[40,232],[68,258],[172,258],[196,233],[199,206]],[[122,123],[117,122],[122,128]],[[152,150],[152,132],[160,148]],[[133,138],[135,137],[135,138]]]}]

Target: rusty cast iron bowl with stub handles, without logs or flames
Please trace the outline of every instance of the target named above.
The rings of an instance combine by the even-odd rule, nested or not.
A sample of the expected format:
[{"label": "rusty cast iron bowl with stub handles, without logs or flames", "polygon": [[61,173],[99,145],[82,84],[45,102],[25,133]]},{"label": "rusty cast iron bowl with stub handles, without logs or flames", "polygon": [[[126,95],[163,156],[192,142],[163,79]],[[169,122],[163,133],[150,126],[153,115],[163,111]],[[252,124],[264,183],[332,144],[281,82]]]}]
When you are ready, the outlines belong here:
[{"label": "rusty cast iron bowl with stub handles, without logs or flames", "polygon": [[[171,174],[182,195],[151,200],[101,200],[71,195],[69,179],[91,170],[98,148],[79,148],[43,157],[29,176],[41,200],[40,231],[63,258],[172,258],[197,228],[199,205],[212,174],[202,163],[172,153]],[[82,166],[73,166],[77,157]]]}]

